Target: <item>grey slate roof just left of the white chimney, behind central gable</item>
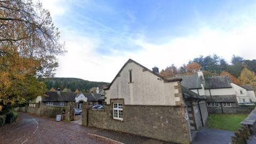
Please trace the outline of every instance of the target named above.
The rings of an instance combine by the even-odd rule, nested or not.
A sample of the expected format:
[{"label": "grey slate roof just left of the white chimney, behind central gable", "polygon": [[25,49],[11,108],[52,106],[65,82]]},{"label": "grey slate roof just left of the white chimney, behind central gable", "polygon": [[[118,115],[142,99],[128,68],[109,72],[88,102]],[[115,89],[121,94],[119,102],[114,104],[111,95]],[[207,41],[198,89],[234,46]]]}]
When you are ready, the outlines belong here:
[{"label": "grey slate roof just left of the white chimney, behind central gable", "polygon": [[[201,79],[197,74],[195,75],[183,75],[183,76],[175,76],[176,78],[181,78],[182,81],[180,84],[185,86],[187,89],[202,89]],[[167,79],[171,79],[173,77],[169,77]]]}]

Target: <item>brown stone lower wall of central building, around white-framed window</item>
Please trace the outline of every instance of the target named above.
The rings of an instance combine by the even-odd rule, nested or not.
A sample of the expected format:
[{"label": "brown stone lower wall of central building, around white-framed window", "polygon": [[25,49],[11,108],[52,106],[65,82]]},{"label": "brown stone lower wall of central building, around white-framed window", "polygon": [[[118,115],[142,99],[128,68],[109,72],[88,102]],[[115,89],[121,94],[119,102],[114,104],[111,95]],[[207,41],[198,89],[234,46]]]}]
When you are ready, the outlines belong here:
[{"label": "brown stone lower wall of central building, around white-framed window", "polygon": [[164,141],[190,143],[185,107],[123,106],[123,121],[113,119],[110,105],[105,110],[88,110],[89,126],[142,135]]}]

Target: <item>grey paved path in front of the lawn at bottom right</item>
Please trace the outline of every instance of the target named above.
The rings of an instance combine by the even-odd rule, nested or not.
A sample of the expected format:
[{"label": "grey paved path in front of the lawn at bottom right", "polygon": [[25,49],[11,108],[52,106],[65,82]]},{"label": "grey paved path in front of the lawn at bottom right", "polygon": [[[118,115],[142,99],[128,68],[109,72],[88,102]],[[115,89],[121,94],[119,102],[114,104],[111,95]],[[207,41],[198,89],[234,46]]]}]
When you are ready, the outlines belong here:
[{"label": "grey paved path in front of the lawn at bottom right", "polygon": [[231,144],[231,136],[235,136],[232,131],[217,130],[204,127],[196,133],[192,144]]}]

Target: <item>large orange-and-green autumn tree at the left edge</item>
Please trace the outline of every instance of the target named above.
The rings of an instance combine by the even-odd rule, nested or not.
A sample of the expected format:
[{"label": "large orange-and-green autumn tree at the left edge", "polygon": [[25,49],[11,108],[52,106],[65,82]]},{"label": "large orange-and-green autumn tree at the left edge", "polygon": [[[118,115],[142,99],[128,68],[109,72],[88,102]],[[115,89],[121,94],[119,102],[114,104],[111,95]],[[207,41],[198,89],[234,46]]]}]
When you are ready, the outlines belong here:
[{"label": "large orange-and-green autumn tree at the left edge", "polygon": [[0,1],[0,111],[44,93],[39,78],[53,76],[65,53],[59,34],[41,3]]}]

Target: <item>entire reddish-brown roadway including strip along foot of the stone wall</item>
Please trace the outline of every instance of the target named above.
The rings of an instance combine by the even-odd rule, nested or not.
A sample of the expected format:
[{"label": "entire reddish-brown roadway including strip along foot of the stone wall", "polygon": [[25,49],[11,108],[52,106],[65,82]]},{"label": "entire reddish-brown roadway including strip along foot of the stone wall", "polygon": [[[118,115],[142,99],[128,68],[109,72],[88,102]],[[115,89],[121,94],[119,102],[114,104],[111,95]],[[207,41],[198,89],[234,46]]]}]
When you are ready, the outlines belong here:
[{"label": "entire reddish-brown roadway including strip along foot of the stone wall", "polygon": [[19,113],[18,122],[0,127],[0,143],[167,144],[167,142],[128,133],[85,127],[77,123],[55,122],[53,118],[30,115],[27,113]]}]

